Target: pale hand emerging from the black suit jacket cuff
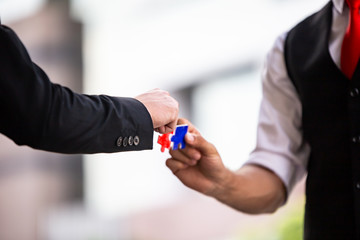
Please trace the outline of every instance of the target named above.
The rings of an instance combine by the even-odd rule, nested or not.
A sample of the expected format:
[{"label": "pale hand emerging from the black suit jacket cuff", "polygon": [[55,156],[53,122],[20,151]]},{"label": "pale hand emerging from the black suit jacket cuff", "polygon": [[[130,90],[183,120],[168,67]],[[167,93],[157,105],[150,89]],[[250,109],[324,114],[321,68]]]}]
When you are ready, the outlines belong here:
[{"label": "pale hand emerging from the black suit jacket cuff", "polygon": [[150,113],[155,131],[169,133],[175,130],[179,103],[164,90],[154,89],[135,97]]}]

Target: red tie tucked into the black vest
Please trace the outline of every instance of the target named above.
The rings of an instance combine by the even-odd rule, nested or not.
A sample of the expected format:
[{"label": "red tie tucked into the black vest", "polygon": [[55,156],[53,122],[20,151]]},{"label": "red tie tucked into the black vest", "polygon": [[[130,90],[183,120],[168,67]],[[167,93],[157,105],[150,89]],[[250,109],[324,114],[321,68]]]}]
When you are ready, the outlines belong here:
[{"label": "red tie tucked into the black vest", "polygon": [[346,0],[350,9],[350,21],[341,49],[341,70],[352,78],[360,58],[360,0]]}]

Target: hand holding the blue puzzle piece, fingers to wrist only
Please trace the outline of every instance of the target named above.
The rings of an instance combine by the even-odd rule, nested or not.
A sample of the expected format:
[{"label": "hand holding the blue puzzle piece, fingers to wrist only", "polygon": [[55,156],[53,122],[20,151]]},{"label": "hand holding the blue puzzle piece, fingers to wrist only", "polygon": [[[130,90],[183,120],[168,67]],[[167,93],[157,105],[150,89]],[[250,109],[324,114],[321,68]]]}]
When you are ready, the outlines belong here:
[{"label": "hand holding the blue puzzle piece, fingers to wrist only", "polygon": [[226,186],[229,170],[225,168],[213,144],[207,142],[185,119],[178,124],[188,124],[185,135],[186,148],[170,150],[166,165],[179,180],[196,191],[216,197]]}]

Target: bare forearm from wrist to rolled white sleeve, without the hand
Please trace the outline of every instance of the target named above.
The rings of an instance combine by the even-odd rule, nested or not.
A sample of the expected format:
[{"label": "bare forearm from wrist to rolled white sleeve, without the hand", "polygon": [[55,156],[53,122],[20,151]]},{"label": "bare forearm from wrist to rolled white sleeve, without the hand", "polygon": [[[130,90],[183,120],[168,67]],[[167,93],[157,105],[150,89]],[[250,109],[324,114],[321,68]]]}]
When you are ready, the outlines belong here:
[{"label": "bare forearm from wrist to rolled white sleeve, without the hand", "polygon": [[284,203],[285,187],[273,172],[256,165],[227,171],[213,195],[220,202],[250,214],[272,213]]}]

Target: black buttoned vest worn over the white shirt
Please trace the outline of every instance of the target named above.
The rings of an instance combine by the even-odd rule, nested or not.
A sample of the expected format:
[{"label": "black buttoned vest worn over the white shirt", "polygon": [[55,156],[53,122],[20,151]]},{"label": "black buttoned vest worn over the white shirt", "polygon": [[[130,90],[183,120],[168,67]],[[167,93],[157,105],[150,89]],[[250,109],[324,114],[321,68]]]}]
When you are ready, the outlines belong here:
[{"label": "black buttoned vest worn over the white shirt", "polygon": [[306,240],[360,239],[360,65],[349,80],[330,56],[332,7],[329,2],[299,23],[285,42],[286,67],[311,147]]}]

